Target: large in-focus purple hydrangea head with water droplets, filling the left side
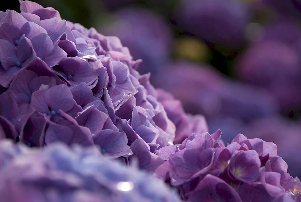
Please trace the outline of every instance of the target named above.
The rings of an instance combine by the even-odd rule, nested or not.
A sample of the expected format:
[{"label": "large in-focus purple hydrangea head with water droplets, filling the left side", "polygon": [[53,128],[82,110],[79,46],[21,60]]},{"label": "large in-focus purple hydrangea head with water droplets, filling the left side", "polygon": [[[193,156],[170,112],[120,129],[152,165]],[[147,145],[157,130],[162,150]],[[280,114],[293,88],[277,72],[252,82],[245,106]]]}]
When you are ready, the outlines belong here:
[{"label": "large in-focus purple hydrangea head with water droplets, filling the left side", "polygon": [[20,0],[20,10],[0,13],[1,137],[97,145],[154,172],[163,163],[154,152],[173,144],[175,125],[150,75],[135,70],[141,60],[119,38],[62,20],[54,8]]}]

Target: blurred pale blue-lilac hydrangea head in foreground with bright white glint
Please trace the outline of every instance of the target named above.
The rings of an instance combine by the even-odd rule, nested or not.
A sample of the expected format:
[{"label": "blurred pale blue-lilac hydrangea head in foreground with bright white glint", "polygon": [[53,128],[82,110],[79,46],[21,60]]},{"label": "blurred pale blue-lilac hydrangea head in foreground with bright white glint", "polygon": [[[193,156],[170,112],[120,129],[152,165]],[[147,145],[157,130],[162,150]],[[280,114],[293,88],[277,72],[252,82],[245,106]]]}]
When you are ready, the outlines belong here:
[{"label": "blurred pale blue-lilac hydrangea head in foreground with bright white glint", "polygon": [[37,150],[2,140],[0,156],[5,202],[181,201],[164,182],[112,161],[93,147],[69,149],[55,143]]}]

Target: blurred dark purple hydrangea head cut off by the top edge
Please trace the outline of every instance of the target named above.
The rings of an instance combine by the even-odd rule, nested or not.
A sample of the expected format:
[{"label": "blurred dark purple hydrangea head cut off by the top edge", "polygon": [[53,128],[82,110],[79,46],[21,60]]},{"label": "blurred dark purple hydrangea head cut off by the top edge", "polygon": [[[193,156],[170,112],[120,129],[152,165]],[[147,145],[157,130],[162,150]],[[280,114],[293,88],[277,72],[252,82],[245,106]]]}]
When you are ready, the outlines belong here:
[{"label": "blurred dark purple hydrangea head cut off by the top edge", "polygon": [[249,21],[247,5],[238,0],[185,0],[180,5],[179,21],[187,31],[217,46],[237,48],[243,41]]}]

